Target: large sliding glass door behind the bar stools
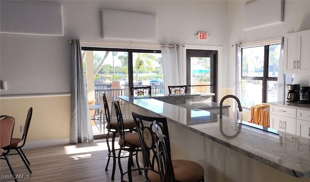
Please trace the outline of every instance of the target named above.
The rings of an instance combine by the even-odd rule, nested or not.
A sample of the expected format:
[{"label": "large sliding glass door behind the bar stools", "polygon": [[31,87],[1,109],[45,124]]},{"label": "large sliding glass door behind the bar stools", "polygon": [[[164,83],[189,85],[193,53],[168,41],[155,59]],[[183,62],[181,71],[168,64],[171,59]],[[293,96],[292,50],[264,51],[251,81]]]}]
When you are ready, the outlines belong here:
[{"label": "large sliding glass door behind the bar stools", "polygon": [[[164,93],[160,50],[82,47],[82,56],[91,104],[102,104],[103,93],[108,99],[129,95],[130,86],[151,86],[152,94]],[[124,105],[122,112],[129,117],[129,105]],[[108,132],[95,121],[92,126],[95,138],[105,137]]]}]

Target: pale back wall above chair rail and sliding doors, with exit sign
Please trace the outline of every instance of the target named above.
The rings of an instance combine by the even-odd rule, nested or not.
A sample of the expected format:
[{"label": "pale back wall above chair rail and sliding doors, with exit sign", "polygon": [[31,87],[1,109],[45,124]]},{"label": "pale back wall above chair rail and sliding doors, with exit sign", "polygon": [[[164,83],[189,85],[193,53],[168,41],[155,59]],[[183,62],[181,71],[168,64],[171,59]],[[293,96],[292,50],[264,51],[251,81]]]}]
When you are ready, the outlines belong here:
[{"label": "pale back wall above chair rail and sliding doors, with exit sign", "polygon": [[[70,92],[69,39],[132,43],[101,38],[101,9],[156,14],[157,42],[151,43],[226,44],[226,1],[47,2],[63,6],[64,37],[1,34],[0,77],[8,87],[1,95]],[[210,39],[198,41],[199,31],[209,32]]]}]

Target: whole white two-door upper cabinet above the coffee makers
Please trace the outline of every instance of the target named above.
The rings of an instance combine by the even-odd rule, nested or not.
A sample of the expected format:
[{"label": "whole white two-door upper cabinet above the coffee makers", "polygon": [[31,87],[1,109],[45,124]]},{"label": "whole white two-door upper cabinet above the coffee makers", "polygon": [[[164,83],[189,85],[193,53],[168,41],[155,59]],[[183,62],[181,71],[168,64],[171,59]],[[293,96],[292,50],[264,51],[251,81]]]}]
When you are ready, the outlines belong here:
[{"label": "whole white two-door upper cabinet above the coffee makers", "polygon": [[309,73],[310,30],[284,35],[284,73]]}]

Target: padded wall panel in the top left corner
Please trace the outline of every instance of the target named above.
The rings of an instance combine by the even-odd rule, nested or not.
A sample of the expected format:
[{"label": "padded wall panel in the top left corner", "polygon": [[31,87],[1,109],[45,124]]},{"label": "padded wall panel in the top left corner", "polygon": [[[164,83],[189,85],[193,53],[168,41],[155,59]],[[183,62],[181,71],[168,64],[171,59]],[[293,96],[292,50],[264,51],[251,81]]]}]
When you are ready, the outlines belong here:
[{"label": "padded wall panel in the top left corner", "polygon": [[62,5],[0,0],[0,33],[63,36]]}]

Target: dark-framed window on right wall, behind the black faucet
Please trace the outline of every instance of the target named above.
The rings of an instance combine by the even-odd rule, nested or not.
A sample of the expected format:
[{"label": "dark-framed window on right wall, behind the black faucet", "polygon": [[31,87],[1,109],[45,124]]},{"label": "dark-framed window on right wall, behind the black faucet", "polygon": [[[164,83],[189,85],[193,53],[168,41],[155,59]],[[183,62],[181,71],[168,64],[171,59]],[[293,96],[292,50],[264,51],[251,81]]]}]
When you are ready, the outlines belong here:
[{"label": "dark-framed window on right wall, behind the black faucet", "polygon": [[241,105],[277,101],[280,44],[242,48]]}]

